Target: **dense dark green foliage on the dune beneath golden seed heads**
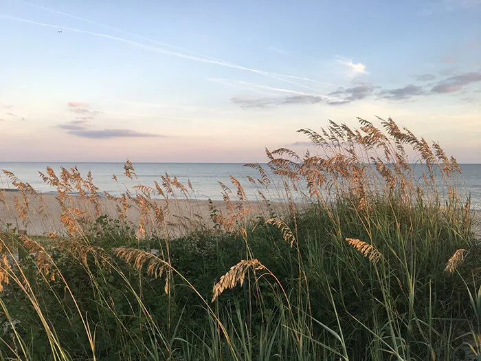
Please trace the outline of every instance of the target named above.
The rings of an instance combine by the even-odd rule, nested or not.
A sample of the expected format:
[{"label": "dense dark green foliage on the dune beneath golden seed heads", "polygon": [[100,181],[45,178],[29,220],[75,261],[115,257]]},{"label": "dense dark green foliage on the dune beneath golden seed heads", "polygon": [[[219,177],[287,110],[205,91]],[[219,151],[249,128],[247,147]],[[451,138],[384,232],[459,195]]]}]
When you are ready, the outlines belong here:
[{"label": "dense dark green foliage on the dune beneath golden seed heads", "polygon": [[[461,357],[460,345],[473,344],[481,326],[480,285],[469,273],[472,268],[460,267],[452,275],[445,272],[456,250],[476,248],[469,228],[458,227],[463,219],[428,208],[407,215],[379,203],[368,216],[369,224],[363,224],[357,211],[343,205],[334,209],[335,217],[315,206],[298,215],[299,256],[276,227],[260,219],[248,232],[247,245],[235,234],[214,232],[192,233],[170,243],[172,267],[205,300],[212,297],[214,281],[245,258],[247,247],[280,281],[290,309],[280,286],[269,275],[259,274],[256,285],[250,275],[250,289],[238,286],[212,304],[231,344],[180,276],[173,276],[175,286],[168,296],[164,278],[139,274],[115,261],[110,252],[111,264],[102,266],[92,255],[83,264],[67,249],[52,249],[67,292],[60,276],[47,282],[38,274],[33,256],[20,265],[58,348],[69,359],[92,358],[88,333],[98,360],[426,360],[430,355],[449,360],[457,353]],[[106,250],[165,248],[155,238],[140,243],[135,237],[119,239],[116,227],[120,226],[104,221],[102,232],[91,236],[90,244]],[[372,239],[382,259],[370,263],[346,237]],[[468,261],[469,255],[467,265]],[[30,292],[12,284],[1,296],[4,311],[14,322],[9,325],[3,313],[2,338],[12,347],[12,351],[0,347],[4,358],[15,352],[21,359],[54,358]],[[62,353],[58,351],[57,358],[63,358]]]}]

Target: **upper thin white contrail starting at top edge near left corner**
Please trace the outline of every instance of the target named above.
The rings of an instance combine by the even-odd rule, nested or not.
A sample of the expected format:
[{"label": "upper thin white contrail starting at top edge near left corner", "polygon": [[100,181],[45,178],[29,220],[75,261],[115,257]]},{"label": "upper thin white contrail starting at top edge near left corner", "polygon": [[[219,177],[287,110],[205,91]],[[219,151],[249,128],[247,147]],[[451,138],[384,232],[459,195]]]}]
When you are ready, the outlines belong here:
[{"label": "upper thin white contrail starting at top edge near left corner", "polygon": [[[97,21],[92,21],[90,19],[85,19],[85,18],[82,18],[82,17],[77,17],[76,15],[73,15],[73,14],[68,14],[67,12],[61,12],[61,11],[58,11],[58,10],[55,10],[55,9],[52,9],[52,8],[48,8],[47,6],[42,6],[42,5],[39,5],[37,3],[32,3],[30,1],[25,1],[25,0],[19,0],[23,3],[27,3],[29,5],[32,5],[32,6],[36,6],[38,8],[42,8],[44,10],[47,10],[47,11],[50,11],[50,12],[54,12],[56,14],[60,14],[60,15],[64,15],[65,17],[71,17],[72,19],[77,19],[77,20],[80,20],[80,21],[85,21],[87,23],[91,23],[91,24],[95,24],[95,25],[99,25],[99,26],[102,26],[104,28],[108,28],[108,29],[111,29],[111,30],[115,30],[117,32],[121,32],[122,34],[126,34],[126,35],[130,35],[130,36],[137,36],[138,38],[140,39],[144,39],[146,41],[151,41],[153,43],[156,43],[158,45],[162,45],[162,46],[166,46],[166,47],[172,47],[173,49],[177,49],[177,50],[181,50],[183,52],[190,52],[192,54],[197,54],[197,56],[195,56],[196,58],[198,58],[199,56],[202,56],[202,58],[199,58],[198,61],[214,61],[214,62],[217,62],[217,65],[223,65],[225,67],[232,67],[234,69],[240,69],[240,70],[247,70],[249,72],[255,72],[255,73],[258,73],[258,74],[262,74],[262,75],[265,75],[265,76],[278,76],[278,77],[281,77],[281,78],[290,78],[290,79],[297,79],[297,80],[306,80],[306,81],[310,81],[310,82],[313,82],[313,83],[319,83],[318,80],[313,80],[311,78],[304,78],[304,77],[300,77],[300,76],[292,76],[292,75],[287,75],[287,74],[277,74],[277,73],[271,73],[271,72],[265,72],[265,71],[262,71],[262,70],[258,70],[258,69],[252,69],[252,68],[249,68],[249,67],[243,67],[242,65],[237,65],[237,64],[234,64],[234,63],[230,63],[228,61],[223,61],[219,58],[214,58],[212,56],[206,56],[206,55],[203,55],[203,54],[199,54],[199,53],[196,53],[196,52],[193,52],[192,50],[188,50],[188,49],[185,49],[183,47],[177,47],[175,45],[170,45],[168,43],[163,43],[161,41],[156,41],[154,39],[150,39],[146,36],[142,36],[142,35],[139,35],[139,34],[134,34],[132,32],[127,32],[125,30],[122,30],[122,29],[119,29],[119,28],[115,28],[111,25],[107,25],[107,24],[103,24],[103,23],[98,23]],[[18,18],[17,18],[18,19]],[[60,28],[60,27],[59,27]],[[168,51],[168,50],[166,50]],[[188,55],[185,55],[185,54],[179,54],[179,53],[175,53],[175,54],[178,54],[178,56],[188,56]],[[202,60],[201,60],[202,59]],[[194,59],[192,59],[194,60]],[[296,84],[298,85],[298,84]]]}]

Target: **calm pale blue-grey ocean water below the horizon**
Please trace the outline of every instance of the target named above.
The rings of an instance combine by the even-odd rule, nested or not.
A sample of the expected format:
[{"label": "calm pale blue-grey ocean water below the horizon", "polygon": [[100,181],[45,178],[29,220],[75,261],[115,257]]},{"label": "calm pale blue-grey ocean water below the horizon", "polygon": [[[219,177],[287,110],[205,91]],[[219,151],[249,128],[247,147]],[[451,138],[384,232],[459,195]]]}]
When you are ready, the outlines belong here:
[{"label": "calm pale blue-grey ocean water below the horizon", "polygon": [[[91,172],[93,183],[102,191],[113,195],[132,189],[134,183],[124,176],[123,163],[41,163],[41,162],[0,162],[0,169],[11,171],[22,182],[30,183],[34,189],[43,193],[54,193],[55,188],[45,184],[38,171],[45,173],[45,168],[51,166],[54,171],[60,172],[60,167],[71,168],[77,166],[82,175]],[[154,181],[161,183],[161,175],[168,173],[170,177],[176,176],[179,182],[187,186],[188,181],[192,184],[197,199],[222,199],[222,188],[219,182],[231,186],[234,195],[235,187],[232,186],[230,175],[236,177],[245,188],[249,199],[257,196],[256,188],[249,185],[247,176],[257,178],[258,172],[252,168],[243,167],[238,163],[136,163],[135,173],[139,182],[147,186],[153,186]],[[267,168],[267,166],[265,166]],[[456,176],[456,186],[462,195],[471,196],[472,208],[481,210],[481,164],[460,164],[462,174]],[[414,174],[421,177],[421,166],[414,167]],[[118,177],[118,182],[113,180],[113,175]],[[441,179],[440,179],[441,180]],[[3,172],[0,175],[0,188],[13,188]],[[267,196],[272,201],[279,200],[279,183],[267,190]]]}]

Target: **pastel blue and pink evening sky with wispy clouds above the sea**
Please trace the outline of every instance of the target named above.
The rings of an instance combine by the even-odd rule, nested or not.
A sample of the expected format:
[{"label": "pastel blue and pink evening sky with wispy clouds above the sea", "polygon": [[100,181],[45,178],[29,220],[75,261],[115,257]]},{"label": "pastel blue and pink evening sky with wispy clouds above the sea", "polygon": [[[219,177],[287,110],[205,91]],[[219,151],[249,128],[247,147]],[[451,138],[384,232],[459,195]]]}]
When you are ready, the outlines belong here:
[{"label": "pastel blue and pink evening sky with wispy clouds above the sea", "polygon": [[481,163],[481,0],[0,0],[3,162],[262,162],[392,117]]}]

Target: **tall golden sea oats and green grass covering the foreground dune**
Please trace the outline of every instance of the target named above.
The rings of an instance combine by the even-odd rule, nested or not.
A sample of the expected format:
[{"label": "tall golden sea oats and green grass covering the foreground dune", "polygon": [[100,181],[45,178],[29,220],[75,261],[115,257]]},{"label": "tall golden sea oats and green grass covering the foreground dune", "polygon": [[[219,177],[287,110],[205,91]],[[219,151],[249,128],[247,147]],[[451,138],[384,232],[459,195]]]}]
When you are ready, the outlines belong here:
[{"label": "tall golden sea oats and green grass covering the foreground dune", "polygon": [[[0,357],[480,355],[481,247],[469,197],[456,190],[460,168],[439,144],[379,122],[303,129],[318,154],[267,151],[267,169],[246,164],[259,174],[248,178],[255,201],[232,177],[220,184],[223,204],[205,209],[190,183],[166,174],[144,186],[128,161],[135,191],[120,196],[76,168],[47,168],[62,229],[3,228]],[[4,173],[19,192],[3,207],[19,227],[55,216],[44,195]]]}]

